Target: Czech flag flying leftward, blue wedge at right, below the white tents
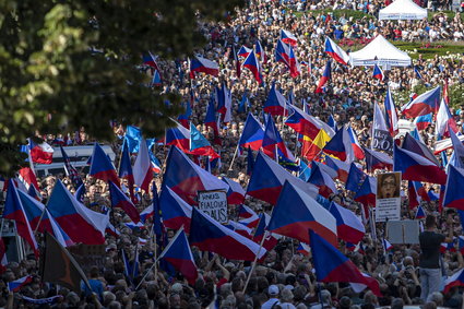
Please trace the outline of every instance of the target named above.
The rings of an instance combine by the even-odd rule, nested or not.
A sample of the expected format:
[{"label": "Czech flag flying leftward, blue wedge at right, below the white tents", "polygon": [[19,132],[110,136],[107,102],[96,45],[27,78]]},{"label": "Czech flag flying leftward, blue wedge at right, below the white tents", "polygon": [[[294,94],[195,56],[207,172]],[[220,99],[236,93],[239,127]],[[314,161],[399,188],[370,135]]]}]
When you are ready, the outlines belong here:
[{"label": "Czech flag flying leftward, blue wedge at right, below the white tents", "polygon": [[430,112],[435,112],[438,109],[440,103],[440,86],[432,88],[415,99],[404,105],[401,110],[407,118],[415,118],[424,116]]}]

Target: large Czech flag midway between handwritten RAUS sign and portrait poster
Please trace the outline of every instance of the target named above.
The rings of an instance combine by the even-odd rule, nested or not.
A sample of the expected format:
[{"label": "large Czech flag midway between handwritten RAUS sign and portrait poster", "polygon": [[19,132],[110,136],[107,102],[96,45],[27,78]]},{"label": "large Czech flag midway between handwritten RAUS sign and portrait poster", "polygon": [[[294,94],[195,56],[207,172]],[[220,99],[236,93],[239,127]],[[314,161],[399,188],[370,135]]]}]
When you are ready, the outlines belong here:
[{"label": "large Czech flag midway between handwritten RAUS sign and portrait poster", "polygon": [[309,235],[305,231],[310,228],[317,230],[333,246],[337,245],[335,217],[314,199],[288,181],[282,189],[267,228],[270,231],[306,243],[310,241]]}]

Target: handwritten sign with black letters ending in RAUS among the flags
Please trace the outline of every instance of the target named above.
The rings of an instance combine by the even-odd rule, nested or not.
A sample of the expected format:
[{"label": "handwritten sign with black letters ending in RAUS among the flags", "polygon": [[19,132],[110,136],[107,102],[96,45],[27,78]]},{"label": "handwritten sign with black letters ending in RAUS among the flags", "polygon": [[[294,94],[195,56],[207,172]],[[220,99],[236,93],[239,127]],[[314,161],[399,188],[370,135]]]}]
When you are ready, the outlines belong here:
[{"label": "handwritten sign with black letters ending in RAUS among the flags", "polygon": [[199,210],[218,223],[226,223],[227,193],[223,190],[199,191]]}]

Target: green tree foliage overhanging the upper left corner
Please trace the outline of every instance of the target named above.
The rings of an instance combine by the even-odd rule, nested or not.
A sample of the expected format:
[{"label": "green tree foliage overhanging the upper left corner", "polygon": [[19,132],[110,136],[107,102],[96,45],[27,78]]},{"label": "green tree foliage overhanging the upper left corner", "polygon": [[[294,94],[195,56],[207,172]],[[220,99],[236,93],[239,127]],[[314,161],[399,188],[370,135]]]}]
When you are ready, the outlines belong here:
[{"label": "green tree foliage overhanging the upper left corner", "polygon": [[17,146],[36,131],[84,127],[92,136],[110,140],[108,123],[118,120],[147,135],[163,133],[168,118],[181,111],[179,97],[144,86],[142,54],[192,55],[205,44],[198,16],[219,20],[241,2],[1,1],[0,174],[17,169]]}]

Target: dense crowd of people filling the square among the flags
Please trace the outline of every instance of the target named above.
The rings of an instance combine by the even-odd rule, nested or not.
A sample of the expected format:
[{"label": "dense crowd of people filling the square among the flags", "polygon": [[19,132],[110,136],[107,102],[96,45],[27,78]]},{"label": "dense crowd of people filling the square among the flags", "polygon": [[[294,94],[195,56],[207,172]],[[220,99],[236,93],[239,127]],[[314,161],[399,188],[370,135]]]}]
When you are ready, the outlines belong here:
[{"label": "dense crowd of people filling the square among the flags", "polygon": [[[250,1],[245,8],[233,12],[225,23],[204,22],[199,16],[199,27],[209,39],[207,45],[197,50],[199,55],[217,61],[219,75],[199,74],[189,79],[187,60],[166,61],[158,59],[163,76],[164,92],[179,92],[182,102],[191,104],[189,120],[197,126],[221,154],[221,165],[213,174],[228,176],[239,182],[245,189],[249,181],[247,175],[247,155],[238,155],[231,166],[239,136],[243,130],[248,112],[262,116],[262,107],[273,84],[285,96],[293,96],[296,106],[306,103],[308,112],[323,121],[333,116],[337,126],[349,124],[357,134],[362,146],[370,147],[372,140],[373,104],[383,105],[386,90],[393,92],[413,92],[417,85],[435,87],[447,81],[450,87],[464,82],[464,56],[436,56],[432,59],[413,60],[411,68],[391,68],[384,81],[372,79],[370,68],[343,66],[333,61],[332,76],[322,94],[314,94],[319,79],[330,57],[324,54],[325,37],[340,41],[345,49],[355,45],[366,44],[377,35],[383,35],[389,40],[411,40],[424,44],[437,44],[437,40],[454,40],[462,43],[464,23],[459,12],[453,17],[440,12],[433,12],[433,17],[424,21],[378,21],[376,14],[386,1]],[[426,1],[427,2],[427,1]],[[429,1],[419,3],[430,5],[435,10],[448,9],[449,1]],[[388,4],[388,3],[386,3]],[[317,11],[333,9],[330,13]],[[358,10],[367,14],[361,19],[347,17],[337,10]],[[301,12],[296,14],[296,12]],[[274,61],[274,49],[281,29],[288,29],[298,39],[295,51],[301,66],[301,73],[292,78],[287,68]],[[248,70],[242,70],[237,76],[233,52],[241,46],[252,48],[260,41],[267,59],[261,59],[263,84],[258,84]],[[343,45],[345,41],[346,45]],[[349,45],[349,46],[348,46]],[[235,49],[234,49],[235,48]],[[239,58],[240,61],[243,58]],[[225,84],[230,90],[233,98],[231,121],[221,123],[219,136],[222,144],[213,143],[214,132],[204,124],[206,107],[215,87]],[[193,95],[192,95],[193,94]],[[240,110],[239,103],[246,96],[246,111]],[[396,102],[396,110],[401,116],[400,106],[407,102]],[[452,103],[460,108],[451,108],[452,116],[463,133],[464,102]],[[461,105],[462,104],[462,105]],[[301,144],[298,134],[283,124],[281,116],[275,118],[276,127],[288,148],[299,156]],[[122,126],[114,123],[116,141],[111,144],[116,153],[115,166],[121,152],[124,135]],[[436,142],[435,124],[420,131],[424,143],[430,148]],[[85,129],[75,133],[62,135],[41,135],[51,145],[82,145],[93,143]],[[169,146],[155,144],[153,153],[163,164],[166,161]],[[440,158],[441,159],[441,158]],[[362,166],[365,163],[359,162]],[[82,171],[86,193],[83,203],[97,212],[104,212],[111,206],[108,183],[95,179]],[[78,188],[64,174],[48,175],[39,180],[43,202],[52,192],[57,179],[61,179],[67,188],[74,193]],[[156,175],[154,182],[160,188],[163,171]],[[439,186],[424,183],[427,190],[440,190]],[[354,201],[352,192],[337,182],[340,193],[331,197],[345,207],[360,215],[358,202]],[[140,212],[152,202],[151,192],[139,191],[136,204]],[[402,217],[414,218],[416,210],[408,207],[407,185],[402,183]],[[258,214],[272,211],[272,205],[248,197],[245,203]],[[87,272],[92,292],[84,288],[82,294],[68,288],[44,284],[39,277],[38,263],[28,258],[20,262],[10,262],[1,275],[2,308],[205,308],[211,304],[219,308],[341,308],[370,309],[390,306],[400,309],[406,305],[461,308],[464,306],[462,290],[452,288],[443,294],[443,278],[451,276],[464,268],[460,250],[447,250],[439,254],[441,242],[452,241],[453,236],[462,234],[460,217],[454,210],[439,213],[439,201],[423,201],[423,206],[429,214],[425,221],[427,235],[421,235],[420,243],[394,245],[385,250],[382,236],[385,234],[383,224],[367,225],[367,234],[355,250],[349,250],[343,241],[340,249],[364,273],[376,278],[380,285],[381,296],[371,290],[358,290],[347,283],[318,283],[313,273],[311,253],[300,253],[299,242],[283,237],[277,246],[270,250],[262,261],[252,269],[252,263],[230,261],[211,252],[201,252],[192,248],[199,278],[194,285],[189,284],[179,273],[166,272],[163,268],[154,271],[154,252],[159,248],[153,241],[151,219],[144,226],[128,227],[130,219],[118,209],[112,210],[111,222],[120,231],[118,236],[107,235],[105,253],[96,266],[84,268]],[[229,205],[229,217],[237,217],[237,205]],[[174,230],[167,230],[167,239],[171,239]],[[442,233],[442,234],[439,234]],[[378,236],[378,238],[373,236]],[[146,239],[141,245],[140,239]],[[430,240],[431,239],[431,240]],[[155,247],[158,246],[155,250]],[[140,270],[133,280],[124,276],[124,264],[121,250],[127,252],[129,260],[135,259],[135,247],[139,247]],[[252,272],[250,274],[250,272]],[[146,277],[143,278],[143,276]],[[33,275],[33,282],[19,293],[8,292],[7,283]],[[249,282],[246,282],[249,277]],[[143,280],[142,280],[143,278]],[[138,289],[135,287],[139,286]],[[26,298],[43,299],[61,295],[55,304],[37,305]],[[212,307],[211,307],[212,308]]]}]

